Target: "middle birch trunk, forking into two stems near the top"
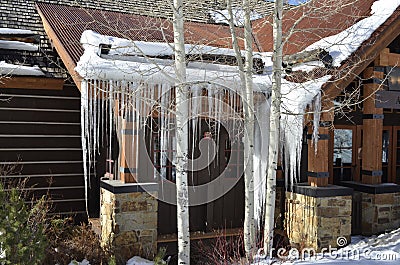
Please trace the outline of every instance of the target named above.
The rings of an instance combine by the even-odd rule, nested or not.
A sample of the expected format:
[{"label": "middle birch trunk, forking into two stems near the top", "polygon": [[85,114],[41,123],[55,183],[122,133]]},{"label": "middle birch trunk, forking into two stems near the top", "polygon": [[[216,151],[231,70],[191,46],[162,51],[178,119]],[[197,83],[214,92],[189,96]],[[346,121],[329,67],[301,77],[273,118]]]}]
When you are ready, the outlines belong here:
[{"label": "middle birch trunk, forking into two stems near the top", "polygon": [[232,1],[227,0],[228,22],[231,31],[232,45],[235,50],[236,60],[239,67],[240,81],[242,83],[241,98],[243,101],[243,114],[245,131],[244,142],[244,185],[245,185],[245,210],[243,237],[246,257],[251,260],[256,250],[256,229],[254,219],[254,104],[253,104],[253,36],[250,21],[250,0],[243,0],[244,10],[244,44],[245,44],[245,63],[243,65],[242,55],[238,45],[238,38],[235,33],[234,16],[232,12]]}]

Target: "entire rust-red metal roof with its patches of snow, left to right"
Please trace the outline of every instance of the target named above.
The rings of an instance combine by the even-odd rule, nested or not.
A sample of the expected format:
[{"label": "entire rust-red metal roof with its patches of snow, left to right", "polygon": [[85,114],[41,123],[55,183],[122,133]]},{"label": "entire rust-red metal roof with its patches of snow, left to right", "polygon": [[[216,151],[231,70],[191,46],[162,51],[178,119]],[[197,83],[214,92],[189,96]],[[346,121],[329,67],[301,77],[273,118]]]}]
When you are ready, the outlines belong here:
[{"label": "entire rust-red metal roof with its patches of snow, left to right", "polygon": [[[337,5],[337,1],[333,0],[311,1],[309,4],[312,5],[314,15],[310,16],[308,14],[308,17],[299,22],[298,27],[306,30],[302,32],[293,32],[290,44],[287,44],[285,51],[298,52],[317,47],[324,48],[333,57],[333,65],[339,67],[345,64],[348,58],[360,51],[361,48],[373,46],[376,39],[379,37],[376,35],[379,35],[379,32],[382,32],[385,27],[388,27],[393,22],[393,18],[399,16],[399,11],[395,11],[399,6],[399,0],[378,0],[375,4],[374,0],[341,1],[347,1],[348,3]],[[327,9],[321,8],[321,5],[324,4],[332,4],[335,6],[332,14],[327,15]],[[302,5],[285,13],[286,17],[284,18],[284,23],[286,29],[288,29],[287,25],[290,22],[306,14],[307,5],[308,4]],[[377,6],[385,8],[377,8]],[[51,27],[51,30],[54,32],[54,36],[51,37],[54,40],[56,48],[61,47],[67,52],[70,61],[64,60],[64,63],[66,65],[72,65],[72,67],[69,68],[71,74],[73,74],[71,71],[74,71],[75,65],[84,52],[79,39],[84,30],[88,28],[92,30],[92,33],[88,34],[86,32],[81,39],[85,49],[88,45],[94,45],[96,49],[98,49],[99,44],[111,45],[112,48],[109,50],[109,56],[114,57],[108,58],[114,61],[112,64],[108,64],[107,67],[109,67],[109,69],[112,68],[113,64],[118,64],[116,69],[125,69],[128,64],[126,61],[129,60],[133,60],[133,63],[138,64],[138,60],[127,58],[142,53],[143,51],[145,55],[156,57],[169,56],[172,54],[172,49],[167,44],[173,41],[172,25],[168,20],[44,3],[38,3],[38,10],[44,23]],[[68,14],[68,16],[64,14]],[[325,16],[320,16],[321,14]],[[71,24],[71,21],[74,20],[80,22]],[[269,43],[272,36],[272,34],[269,34],[271,27],[267,26],[266,21],[268,21],[268,19],[258,19],[253,22],[256,33],[255,39],[257,47],[263,51],[271,51],[272,48]],[[68,27],[68,30],[65,30],[66,27]],[[228,27],[215,24],[187,22],[185,28],[186,41],[188,44],[191,44],[187,45],[188,53],[196,53],[193,49],[195,47],[201,47],[197,52],[202,53],[206,51],[207,53],[210,52],[220,55],[233,54],[229,49],[231,48],[231,41]],[[240,29],[238,30],[240,35]],[[100,34],[96,35],[93,31],[99,32]],[[375,39],[373,39],[373,37],[375,37]],[[88,41],[85,41],[84,38],[88,38]],[[129,41],[127,39],[129,39]],[[131,42],[131,40],[134,42]],[[163,44],[161,44],[161,42]],[[119,44],[116,45],[116,43]],[[264,57],[266,71],[270,70],[270,55],[268,53],[260,54]],[[125,58],[123,58],[124,56]],[[102,57],[103,61],[107,58],[107,56]],[[86,56],[85,58],[87,59],[88,57]],[[125,62],[120,63],[115,60]],[[87,63],[85,67],[82,65],[83,64],[77,68],[82,74],[84,73],[84,75],[88,76],[97,75],[98,77],[102,75],[105,77],[104,71],[101,74],[97,71],[95,74],[93,66],[89,67]],[[168,65],[168,63],[164,63],[164,65]],[[208,70],[211,70],[210,65],[203,64],[202,66],[196,65],[196,67],[206,67]],[[218,69],[225,71],[222,70],[222,68],[226,70],[229,67],[219,67]],[[215,69],[214,67],[213,70]],[[305,72],[315,69],[317,69],[318,74],[312,74],[311,76],[314,78],[321,78],[324,75],[334,73],[325,70],[319,71],[318,69],[323,69],[320,62],[297,65],[293,68],[294,71]],[[231,70],[228,70],[228,72],[232,73]],[[108,71],[106,76],[110,75],[110,71]],[[119,75],[127,76],[128,72],[120,71]],[[260,77],[258,77],[258,79],[259,78]],[[269,84],[270,81],[266,82],[264,80],[261,83]]]}]

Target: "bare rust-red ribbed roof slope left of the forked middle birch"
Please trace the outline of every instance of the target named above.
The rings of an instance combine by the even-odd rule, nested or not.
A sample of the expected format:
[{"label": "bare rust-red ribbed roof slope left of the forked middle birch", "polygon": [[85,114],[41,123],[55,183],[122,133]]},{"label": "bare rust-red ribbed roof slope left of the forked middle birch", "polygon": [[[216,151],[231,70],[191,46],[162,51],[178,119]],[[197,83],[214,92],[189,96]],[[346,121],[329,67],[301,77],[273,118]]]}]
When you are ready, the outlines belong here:
[{"label": "bare rust-red ribbed roof slope left of the forked middle birch", "polygon": [[[88,29],[134,41],[173,42],[170,20],[46,3],[37,3],[37,8],[44,23],[54,32],[54,45],[62,46],[68,53],[72,61],[68,63],[79,61],[83,54],[80,38]],[[231,47],[228,26],[186,22],[185,28],[187,43]]]}]

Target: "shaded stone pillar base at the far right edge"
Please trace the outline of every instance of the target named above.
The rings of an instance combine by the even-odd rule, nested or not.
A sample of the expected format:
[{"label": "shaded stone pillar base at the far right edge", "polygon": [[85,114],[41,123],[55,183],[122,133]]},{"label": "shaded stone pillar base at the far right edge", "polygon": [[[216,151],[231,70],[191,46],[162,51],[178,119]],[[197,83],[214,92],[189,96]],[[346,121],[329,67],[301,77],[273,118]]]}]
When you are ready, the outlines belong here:
[{"label": "shaded stone pillar base at the far right edge", "polygon": [[362,233],[372,235],[400,227],[400,192],[362,194]]}]

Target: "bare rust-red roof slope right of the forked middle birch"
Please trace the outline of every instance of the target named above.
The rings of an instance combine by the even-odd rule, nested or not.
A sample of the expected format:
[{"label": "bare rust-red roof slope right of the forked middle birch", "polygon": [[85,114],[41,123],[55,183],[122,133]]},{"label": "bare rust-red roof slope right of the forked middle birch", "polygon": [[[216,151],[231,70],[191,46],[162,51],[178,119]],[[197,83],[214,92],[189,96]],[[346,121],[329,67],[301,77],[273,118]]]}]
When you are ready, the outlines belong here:
[{"label": "bare rust-red roof slope right of the forked middle birch", "polygon": [[[284,54],[294,54],[320,39],[338,34],[371,15],[375,0],[323,0],[293,8],[284,13],[283,31],[289,36]],[[382,6],[396,5],[397,0],[383,1]],[[383,10],[382,10],[383,11]],[[263,51],[272,51],[272,17],[254,21],[256,42]],[[291,31],[292,25],[296,29]]]}]

